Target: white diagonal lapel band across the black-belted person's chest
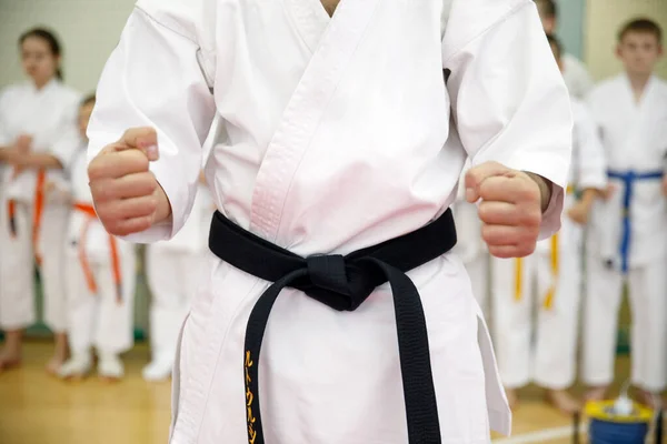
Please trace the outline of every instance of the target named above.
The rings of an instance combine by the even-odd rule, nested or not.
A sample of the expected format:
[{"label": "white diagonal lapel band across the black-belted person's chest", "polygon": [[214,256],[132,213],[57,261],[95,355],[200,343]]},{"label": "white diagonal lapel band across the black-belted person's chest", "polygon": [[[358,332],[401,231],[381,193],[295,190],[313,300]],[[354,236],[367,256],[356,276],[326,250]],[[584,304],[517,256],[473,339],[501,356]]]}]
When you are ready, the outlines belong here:
[{"label": "white diagonal lapel band across the black-belted person's chest", "polygon": [[378,3],[345,0],[339,4],[285,109],[252,194],[250,230],[268,241],[276,243],[291,179]]}]

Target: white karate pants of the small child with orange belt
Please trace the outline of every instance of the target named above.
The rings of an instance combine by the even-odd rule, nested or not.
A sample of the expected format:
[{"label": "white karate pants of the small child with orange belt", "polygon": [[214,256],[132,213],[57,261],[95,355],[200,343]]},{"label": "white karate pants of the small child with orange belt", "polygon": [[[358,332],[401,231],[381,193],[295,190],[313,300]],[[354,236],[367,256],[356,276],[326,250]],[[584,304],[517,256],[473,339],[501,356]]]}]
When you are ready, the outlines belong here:
[{"label": "white karate pants of the small child with orange belt", "polygon": [[79,262],[77,245],[67,248],[67,294],[69,342],[73,353],[98,352],[120,354],[132,347],[135,290],[137,282],[135,246],[118,242],[122,276],[122,302],[116,297],[111,258],[91,262],[98,293],[88,287],[86,274]]}]

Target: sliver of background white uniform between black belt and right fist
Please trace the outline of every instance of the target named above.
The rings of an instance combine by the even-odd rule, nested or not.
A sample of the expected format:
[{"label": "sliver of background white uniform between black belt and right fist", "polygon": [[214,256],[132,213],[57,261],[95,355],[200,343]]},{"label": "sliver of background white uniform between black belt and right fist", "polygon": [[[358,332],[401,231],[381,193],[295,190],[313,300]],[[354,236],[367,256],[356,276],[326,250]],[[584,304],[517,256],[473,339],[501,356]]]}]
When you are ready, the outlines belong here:
[{"label": "sliver of background white uniform between black belt and right fist", "polygon": [[486,243],[481,239],[481,221],[477,205],[468,203],[465,196],[465,172],[459,181],[457,200],[452,206],[454,220],[456,221],[457,244],[452,251],[461,258],[470,284],[472,294],[481,307],[487,322],[489,309],[489,261],[490,254]]}]

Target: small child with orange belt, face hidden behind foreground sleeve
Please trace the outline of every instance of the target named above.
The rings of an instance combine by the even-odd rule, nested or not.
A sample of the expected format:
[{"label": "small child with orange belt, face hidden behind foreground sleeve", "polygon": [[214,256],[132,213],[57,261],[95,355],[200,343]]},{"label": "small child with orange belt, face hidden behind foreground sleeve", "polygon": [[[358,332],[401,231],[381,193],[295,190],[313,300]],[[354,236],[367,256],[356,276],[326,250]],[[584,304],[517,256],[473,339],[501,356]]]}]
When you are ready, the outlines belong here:
[{"label": "small child with orange belt, face hidden behind foreground sleeve", "polygon": [[[72,356],[58,374],[63,379],[87,375],[94,349],[99,376],[113,381],[125,374],[120,354],[133,344],[136,252],[135,245],[104,231],[92,206],[84,147],[93,105],[94,97],[89,97],[80,107],[81,139],[69,171],[72,216],[66,262]],[[128,180],[125,186],[136,189],[140,184]]]}]

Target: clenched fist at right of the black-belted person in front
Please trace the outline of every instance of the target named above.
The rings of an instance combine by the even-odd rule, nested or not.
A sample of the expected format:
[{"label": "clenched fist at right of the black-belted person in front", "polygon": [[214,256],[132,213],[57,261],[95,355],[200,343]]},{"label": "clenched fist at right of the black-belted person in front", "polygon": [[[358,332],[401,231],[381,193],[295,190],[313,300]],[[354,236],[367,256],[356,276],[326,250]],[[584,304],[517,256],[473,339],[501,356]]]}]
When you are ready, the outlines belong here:
[{"label": "clenched fist at right of the black-belted person in front", "polygon": [[528,174],[497,162],[468,170],[466,199],[479,204],[481,236],[497,258],[522,258],[535,251],[541,225],[541,194]]}]

